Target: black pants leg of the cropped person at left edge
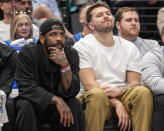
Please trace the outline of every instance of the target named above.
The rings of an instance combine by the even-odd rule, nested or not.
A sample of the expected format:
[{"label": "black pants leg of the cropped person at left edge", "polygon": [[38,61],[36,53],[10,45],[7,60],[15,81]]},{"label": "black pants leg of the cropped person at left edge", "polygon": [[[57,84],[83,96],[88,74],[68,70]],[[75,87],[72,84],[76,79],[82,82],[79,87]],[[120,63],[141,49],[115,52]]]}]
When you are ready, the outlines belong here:
[{"label": "black pants leg of the cropped person at left edge", "polygon": [[8,115],[9,122],[5,123],[2,127],[2,131],[15,131],[15,120],[16,120],[16,110],[15,110],[14,99],[6,100],[6,112]]}]

